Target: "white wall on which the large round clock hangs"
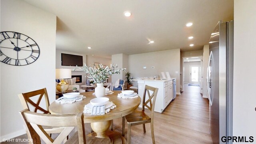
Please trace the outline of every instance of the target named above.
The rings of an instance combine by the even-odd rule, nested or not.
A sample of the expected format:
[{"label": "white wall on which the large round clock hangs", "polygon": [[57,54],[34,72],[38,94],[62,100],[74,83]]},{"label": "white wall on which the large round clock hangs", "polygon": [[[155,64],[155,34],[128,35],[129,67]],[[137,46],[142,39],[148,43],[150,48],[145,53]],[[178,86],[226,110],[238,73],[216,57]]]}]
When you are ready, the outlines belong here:
[{"label": "white wall on which the large round clock hangs", "polygon": [[1,66],[1,141],[25,133],[17,94],[47,88],[55,100],[56,16],[20,0],[1,0],[1,32],[20,32],[40,48],[39,58],[26,66]]}]

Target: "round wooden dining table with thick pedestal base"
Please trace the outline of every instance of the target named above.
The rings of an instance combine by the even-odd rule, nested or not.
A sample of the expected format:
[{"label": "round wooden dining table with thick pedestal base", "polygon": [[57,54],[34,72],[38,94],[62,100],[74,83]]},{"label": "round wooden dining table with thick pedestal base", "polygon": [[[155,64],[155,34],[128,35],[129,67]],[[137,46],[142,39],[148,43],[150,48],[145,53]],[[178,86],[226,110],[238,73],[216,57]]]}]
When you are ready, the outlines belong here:
[{"label": "round wooden dining table with thick pedestal base", "polygon": [[[110,137],[107,130],[110,127],[111,120],[122,118],[123,116],[132,113],[134,110],[136,110],[136,108],[138,108],[141,102],[140,96],[133,99],[124,99],[117,97],[121,91],[112,92],[114,93],[105,95],[105,97],[109,98],[109,101],[116,104],[116,108],[110,110],[110,112],[104,115],[91,115],[84,113],[84,123],[90,123],[92,130],[96,133],[96,136],[100,138]],[[93,95],[93,92],[83,92],[80,94],[86,96],[86,98],[80,102],[74,102],[72,104],[60,104],[53,102],[49,106],[49,112],[51,114],[78,114],[79,112],[83,112],[84,106],[90,103],[90,100],[96,98],[96,96]],[[113,131],[110,133],[113,133]]]}]

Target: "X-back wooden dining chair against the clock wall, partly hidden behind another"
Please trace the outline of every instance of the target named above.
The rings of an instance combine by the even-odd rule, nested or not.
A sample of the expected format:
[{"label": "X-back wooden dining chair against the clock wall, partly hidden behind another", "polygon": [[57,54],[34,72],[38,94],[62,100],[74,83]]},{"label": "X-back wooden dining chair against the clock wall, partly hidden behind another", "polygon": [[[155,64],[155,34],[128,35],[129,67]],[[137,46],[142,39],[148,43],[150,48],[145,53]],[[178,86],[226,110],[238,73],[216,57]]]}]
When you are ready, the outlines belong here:
[{"label": "X-back wooden dining chair against the clock wall, partly hidden behind another", "polygon": [[[30,110],[32,112],[38,112],[38,110],[40,110],[41,112],[43,112],[44,114],[50,114],[49,113],[49,98],[48,98],[48,93],[46,88],[42,88],[40,90],[35,90],[32,92],[26,92],[26,93],[22,93],[22,94],[18,94],[19,98],[20,98],[20,102],[22,104],[22,107],[24,109],[28,109],[30,110],[28,104],[30,104],[34,110]],[[33,100],[31,100],[31,98],[35,98],[36,96],[38,96],[37,100],[34,100],[36,102],[34,102]],[[46,108],[42,108],[42,106],[39,106],[41,103],[41,100],[44,96],[44,100],[45,100],[45,104],[46,104]],[[51,128],[51,127],[44,127],[44,130],[50,134],[53,133],[60,133],[62,132],[64,128]],[[64,140],[64,142],[66,142],[66,140],[68,139],[68,137]]]}]

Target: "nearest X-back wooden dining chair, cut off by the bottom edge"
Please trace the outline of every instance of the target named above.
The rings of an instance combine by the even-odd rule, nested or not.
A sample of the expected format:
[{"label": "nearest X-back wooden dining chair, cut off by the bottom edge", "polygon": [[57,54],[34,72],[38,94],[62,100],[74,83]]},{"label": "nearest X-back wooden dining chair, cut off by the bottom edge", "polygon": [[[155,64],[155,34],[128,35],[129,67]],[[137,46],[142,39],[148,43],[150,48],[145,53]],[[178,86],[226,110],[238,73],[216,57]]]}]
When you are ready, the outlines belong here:
[{"label": "nearest X-back wooden dining chair, cut off by the bottom edge", "polygon": [[[46,144],[60,144],[68,134],[77,127],[77,131],[71,136],[65,144],[106,144],[110,142],[109,138],[97,138],[85,136],[84,114],[39,114],[30,112],[28,109],[20,112],[27,128],[28,138],[32,139],[29,144],[41,144],[41,139]],[[53,140],[42,126],[65,127],[64,130]],[[41,139],[40,139],[41,138]]]}]

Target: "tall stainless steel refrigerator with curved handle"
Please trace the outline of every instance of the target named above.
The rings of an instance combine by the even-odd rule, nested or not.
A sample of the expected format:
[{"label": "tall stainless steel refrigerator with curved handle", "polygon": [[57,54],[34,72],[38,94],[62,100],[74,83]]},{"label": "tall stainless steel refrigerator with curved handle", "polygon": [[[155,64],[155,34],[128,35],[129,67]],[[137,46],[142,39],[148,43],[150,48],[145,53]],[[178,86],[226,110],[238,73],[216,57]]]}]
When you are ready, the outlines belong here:
[{"label": "tall stainless steel refrigerator with curved handle", "polygon": [[232,136],[233,112],[233,43],[234,22],[218,22],[209,42],[208,94],[210,101],[210,133],[213,144],[223,136]]}]

